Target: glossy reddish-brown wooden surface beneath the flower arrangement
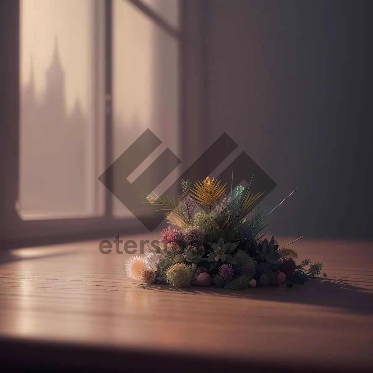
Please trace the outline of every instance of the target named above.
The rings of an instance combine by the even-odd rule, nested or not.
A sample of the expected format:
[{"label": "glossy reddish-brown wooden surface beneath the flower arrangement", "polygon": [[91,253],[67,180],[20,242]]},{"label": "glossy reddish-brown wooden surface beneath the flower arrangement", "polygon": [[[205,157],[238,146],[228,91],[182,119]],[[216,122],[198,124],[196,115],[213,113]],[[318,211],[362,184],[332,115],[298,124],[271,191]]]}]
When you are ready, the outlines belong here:
[{"label": "glossy reddish-brown wooden surface beneath the flower arrangement", "polygon": [[326,278],[236,292],[134,283],[128,255],[98,242],[0,252],[0,361],[18,351],[19,364],[63,370],[133,372],[151,359],[154,372],[373,371],[372,242],[300,240],[299,259],[323,262]]}]

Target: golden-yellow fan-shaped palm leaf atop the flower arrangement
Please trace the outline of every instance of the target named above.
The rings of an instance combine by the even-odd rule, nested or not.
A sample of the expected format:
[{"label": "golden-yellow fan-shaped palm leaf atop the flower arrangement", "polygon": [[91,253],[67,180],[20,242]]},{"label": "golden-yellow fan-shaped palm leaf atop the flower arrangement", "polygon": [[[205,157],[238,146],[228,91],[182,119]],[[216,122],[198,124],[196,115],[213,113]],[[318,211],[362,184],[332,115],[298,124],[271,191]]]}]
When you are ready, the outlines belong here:
[{"label": "golden-yellow fan-shaped palm leaf atop the flower arrangement", "polygon": [[202,181],[197,181],[193,188],[191,188],[191,198],[195,202],[199,203],[201,206],[211,209],[211,206],[219,200],[220,197],[225,193],[225,185],[220,185],[220,181],[217,181],[215,178],[208,176]]}]

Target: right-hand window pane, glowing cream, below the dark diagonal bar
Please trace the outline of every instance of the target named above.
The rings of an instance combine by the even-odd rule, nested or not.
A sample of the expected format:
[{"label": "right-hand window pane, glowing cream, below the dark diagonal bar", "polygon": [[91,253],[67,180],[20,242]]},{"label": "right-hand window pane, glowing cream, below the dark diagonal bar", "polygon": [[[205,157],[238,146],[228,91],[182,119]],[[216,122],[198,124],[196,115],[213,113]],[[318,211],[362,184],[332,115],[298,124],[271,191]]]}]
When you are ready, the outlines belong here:
[{"label": "right-hand window pane, glowing cream, below the dark diagonal bar", "polygon": [[[166,1],[172,9],[178,1]],[[178,10],[178,7],[176,7]],[[162,145],[127,179],[133,182],[167,147],[179,158],[179,40],[131,3],[113,3],[113,158],[117,159],[145,129]],[[155,170],[157,172],[157,170]],[[179,168],[159,185],[163,192]],[[115,183],[115,180],[114,180]],[[163,187],[164,186],[164,187]],[[162,190],[163,189],[163,190]],[[115,216],[132,216],[114,198]]]}]

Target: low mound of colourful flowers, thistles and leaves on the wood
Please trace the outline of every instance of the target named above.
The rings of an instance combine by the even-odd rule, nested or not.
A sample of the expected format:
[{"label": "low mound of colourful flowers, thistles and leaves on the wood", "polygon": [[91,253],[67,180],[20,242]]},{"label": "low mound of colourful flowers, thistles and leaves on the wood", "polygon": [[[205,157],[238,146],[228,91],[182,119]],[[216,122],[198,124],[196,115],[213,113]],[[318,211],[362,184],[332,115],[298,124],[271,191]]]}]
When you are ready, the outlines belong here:
[{"label": "low mound of colourful flowers, thistles and leaves on the wood", "polygon": [[297,265],[293,250],[279,249],[273,236],[262,239],[268,216],[258,206],[263,193],[254,195],[250,185],[240,185],[227,194],[226,185],[209,177],[181,184],[177,201],[167,195],[147,196],[145,203],[166,211],[170,225],[160,233],[156,248],[126,261],[130,278],[175,288],[214,285],[239,290],[286,280],[291,286],[320,273],[322,263],[304,260]]}]

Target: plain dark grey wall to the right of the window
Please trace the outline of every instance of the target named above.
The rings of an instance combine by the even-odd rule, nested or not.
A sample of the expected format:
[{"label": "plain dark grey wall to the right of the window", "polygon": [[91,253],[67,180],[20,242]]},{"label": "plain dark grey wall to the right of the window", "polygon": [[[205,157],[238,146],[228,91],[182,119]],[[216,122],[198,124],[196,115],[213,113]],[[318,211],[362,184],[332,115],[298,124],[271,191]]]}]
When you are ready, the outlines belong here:
[{"label": "plain dark grey wall to the right of the window", "polygon": [[[373,237],[371,1],[209,0],[207,126],[278,184],[273,232]],[[211,138],[211,140],[210,140]]]}]

